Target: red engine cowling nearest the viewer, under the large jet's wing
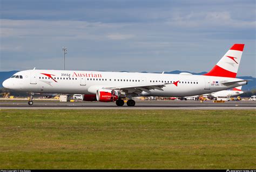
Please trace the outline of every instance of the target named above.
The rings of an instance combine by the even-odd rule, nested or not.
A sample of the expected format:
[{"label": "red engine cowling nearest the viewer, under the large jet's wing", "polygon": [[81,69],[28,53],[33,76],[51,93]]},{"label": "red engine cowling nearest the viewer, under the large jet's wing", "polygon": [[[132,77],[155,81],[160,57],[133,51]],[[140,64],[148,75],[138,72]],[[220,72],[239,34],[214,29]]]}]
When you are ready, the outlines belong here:
[{"label": "red engine cowling nearest the viewer, under the large jet's wing", "polygon": [[114,102],[118,99],[114,90],[97,90],[96,98],[99,102]]}]

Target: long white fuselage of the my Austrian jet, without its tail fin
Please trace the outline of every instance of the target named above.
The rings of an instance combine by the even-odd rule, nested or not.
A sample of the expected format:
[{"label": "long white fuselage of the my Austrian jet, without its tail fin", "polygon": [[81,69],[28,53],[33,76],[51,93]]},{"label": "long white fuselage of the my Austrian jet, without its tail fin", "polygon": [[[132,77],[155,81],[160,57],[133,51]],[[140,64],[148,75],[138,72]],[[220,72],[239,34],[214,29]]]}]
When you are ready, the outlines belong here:
[{"label": "long white fuselage of the my Austrian jet, without its tail fin", "polygon": [[[139,87],[140,85],[166,84],[163,90],[153,89],[150,93],[143,91],[140,96],[184,97],[203,95],[247,84],[246,81],[228,86],[221,84],[241,81],[238,78],[230,77],[108,71],[24,70],[15,75],[21,75],[22,78],[5,80],[3,83],[5,88],[52,94],[96,94],[98,89],[104,87]],[[177,86],[173,84],[176,81],[179,81]],[[131,93],[134,92],[132,89],[134,88],[130,89]],[[129,89],[127,94],[129,94]]]}]

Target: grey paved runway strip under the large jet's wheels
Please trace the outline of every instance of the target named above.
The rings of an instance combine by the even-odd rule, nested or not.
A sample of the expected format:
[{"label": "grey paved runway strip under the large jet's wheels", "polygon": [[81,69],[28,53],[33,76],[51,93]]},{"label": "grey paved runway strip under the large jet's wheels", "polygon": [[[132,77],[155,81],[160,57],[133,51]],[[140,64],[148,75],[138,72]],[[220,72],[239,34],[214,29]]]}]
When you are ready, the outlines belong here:
[{"label": "grey paved runway strip under the large jet's wheels", "polygon": [[58,101],[34,101],[32,106],[28,101],[0,101],[0,109],[181,109],[181,110],[216,110],[216,109],[242,109],[256,110],[256,102],[230,101],[225,103],[213,103],[213,101],[136,101],[134,107],[117,106],[109,102],[58,102]]}]

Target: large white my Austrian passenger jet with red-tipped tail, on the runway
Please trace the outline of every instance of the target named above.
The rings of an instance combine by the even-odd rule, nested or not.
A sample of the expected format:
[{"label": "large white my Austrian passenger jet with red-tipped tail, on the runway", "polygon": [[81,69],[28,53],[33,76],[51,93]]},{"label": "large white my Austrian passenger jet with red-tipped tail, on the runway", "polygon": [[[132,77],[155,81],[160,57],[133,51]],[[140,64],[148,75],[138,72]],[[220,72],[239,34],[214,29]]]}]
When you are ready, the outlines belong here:
[{"label": "large white my Austrian passenger jet with red-tipped tail, on the runway", "polygon": [[116,102],[134,106],[132,97],[185,97],[203,95],[247,84],[235,78],[244,44],[234,44],[219,62],[204,75],[126,73],[77,70],[23,70],[3,82],[6,89],[30,93],[83,94],[84,101]]}]

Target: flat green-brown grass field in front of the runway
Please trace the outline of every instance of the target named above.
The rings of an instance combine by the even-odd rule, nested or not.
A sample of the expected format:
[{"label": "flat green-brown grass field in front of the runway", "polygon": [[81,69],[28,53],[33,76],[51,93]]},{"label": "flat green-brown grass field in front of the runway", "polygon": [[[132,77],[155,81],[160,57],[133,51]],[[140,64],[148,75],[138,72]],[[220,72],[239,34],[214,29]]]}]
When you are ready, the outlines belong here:
[{"label": "flat green-brown grass field in front of the runway", "polygon": [[0,169],[255,169],[255,110],[0,110]]}]

